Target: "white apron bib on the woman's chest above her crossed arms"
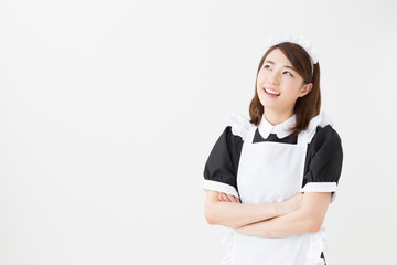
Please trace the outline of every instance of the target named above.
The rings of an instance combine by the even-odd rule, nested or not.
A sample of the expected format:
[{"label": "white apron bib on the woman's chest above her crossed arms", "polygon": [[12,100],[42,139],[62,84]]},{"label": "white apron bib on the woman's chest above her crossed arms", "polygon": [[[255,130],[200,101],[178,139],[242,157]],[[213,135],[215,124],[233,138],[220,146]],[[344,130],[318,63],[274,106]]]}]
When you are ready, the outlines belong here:
[{"label": "white apron bib on the woman's chest above her crossed arms", "polygon": [[242,203],[281,202],[302,188],[308,149],[305,134],[297,145],[261,141],[253,144],[256,128],[244,141],[237,172]]}]

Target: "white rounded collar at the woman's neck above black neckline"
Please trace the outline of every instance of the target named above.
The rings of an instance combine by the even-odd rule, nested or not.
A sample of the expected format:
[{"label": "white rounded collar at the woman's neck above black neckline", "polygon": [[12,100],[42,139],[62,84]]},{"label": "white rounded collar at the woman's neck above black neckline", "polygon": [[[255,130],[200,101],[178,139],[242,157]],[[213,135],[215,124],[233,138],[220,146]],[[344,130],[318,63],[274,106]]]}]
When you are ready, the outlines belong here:
[{"label": "white rounded collar at the woman's neck above black neckline", "polygon": [[278,125],[271,125],[265,118],[265,114],[264,114],[258,125],[258,129],[259,129],[259,134],[265,139],[268,138],[270,134],[276,134],[279,139],[282,139],[292,132],[291,128],[294,126],[294,124],[296,124],[296,114],[293,114],[290,118],[286,119],[285,121]]}]

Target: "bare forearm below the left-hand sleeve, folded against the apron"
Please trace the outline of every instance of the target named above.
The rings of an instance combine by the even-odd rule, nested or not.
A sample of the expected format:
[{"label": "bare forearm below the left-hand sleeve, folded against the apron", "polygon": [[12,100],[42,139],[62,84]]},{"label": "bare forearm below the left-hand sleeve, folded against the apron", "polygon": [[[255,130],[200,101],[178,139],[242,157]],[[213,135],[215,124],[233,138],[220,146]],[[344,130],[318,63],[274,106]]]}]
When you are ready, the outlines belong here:
[{"label": "bare forearm below the left-hand sleeve, folded against the apron", "polygon": [[243,204],[218,201],[205,209],[205,216],[210,224],[233,229],[281,214],[282,208],[279,203]]}]

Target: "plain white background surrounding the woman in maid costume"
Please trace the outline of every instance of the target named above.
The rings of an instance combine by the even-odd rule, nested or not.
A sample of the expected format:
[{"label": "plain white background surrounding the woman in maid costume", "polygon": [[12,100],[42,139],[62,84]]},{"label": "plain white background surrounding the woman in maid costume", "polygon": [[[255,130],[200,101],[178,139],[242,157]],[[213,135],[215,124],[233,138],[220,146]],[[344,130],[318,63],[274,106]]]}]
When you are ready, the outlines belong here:
[{"label": "plain white background surrounding the woman in maid costume", "polygon": [[394,1],[0,1],[0,264],[219,264],[201,186],[268,35],[320,54],[330,265],[397,264]]}]

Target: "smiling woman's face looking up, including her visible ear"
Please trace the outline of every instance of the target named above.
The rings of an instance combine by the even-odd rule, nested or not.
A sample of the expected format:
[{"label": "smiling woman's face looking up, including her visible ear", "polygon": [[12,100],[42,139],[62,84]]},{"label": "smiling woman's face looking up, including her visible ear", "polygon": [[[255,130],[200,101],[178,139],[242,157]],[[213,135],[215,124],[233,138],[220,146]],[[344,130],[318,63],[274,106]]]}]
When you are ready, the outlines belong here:
[{"label": "smiling woman's face looking up, including her visible ear", "polygon": [[292,116],[297,99],[311,87],[311,83],[303,84],[303,78],[279,49],[267,55],[257,77],[257,93],[265,112],[282,116]]}]

